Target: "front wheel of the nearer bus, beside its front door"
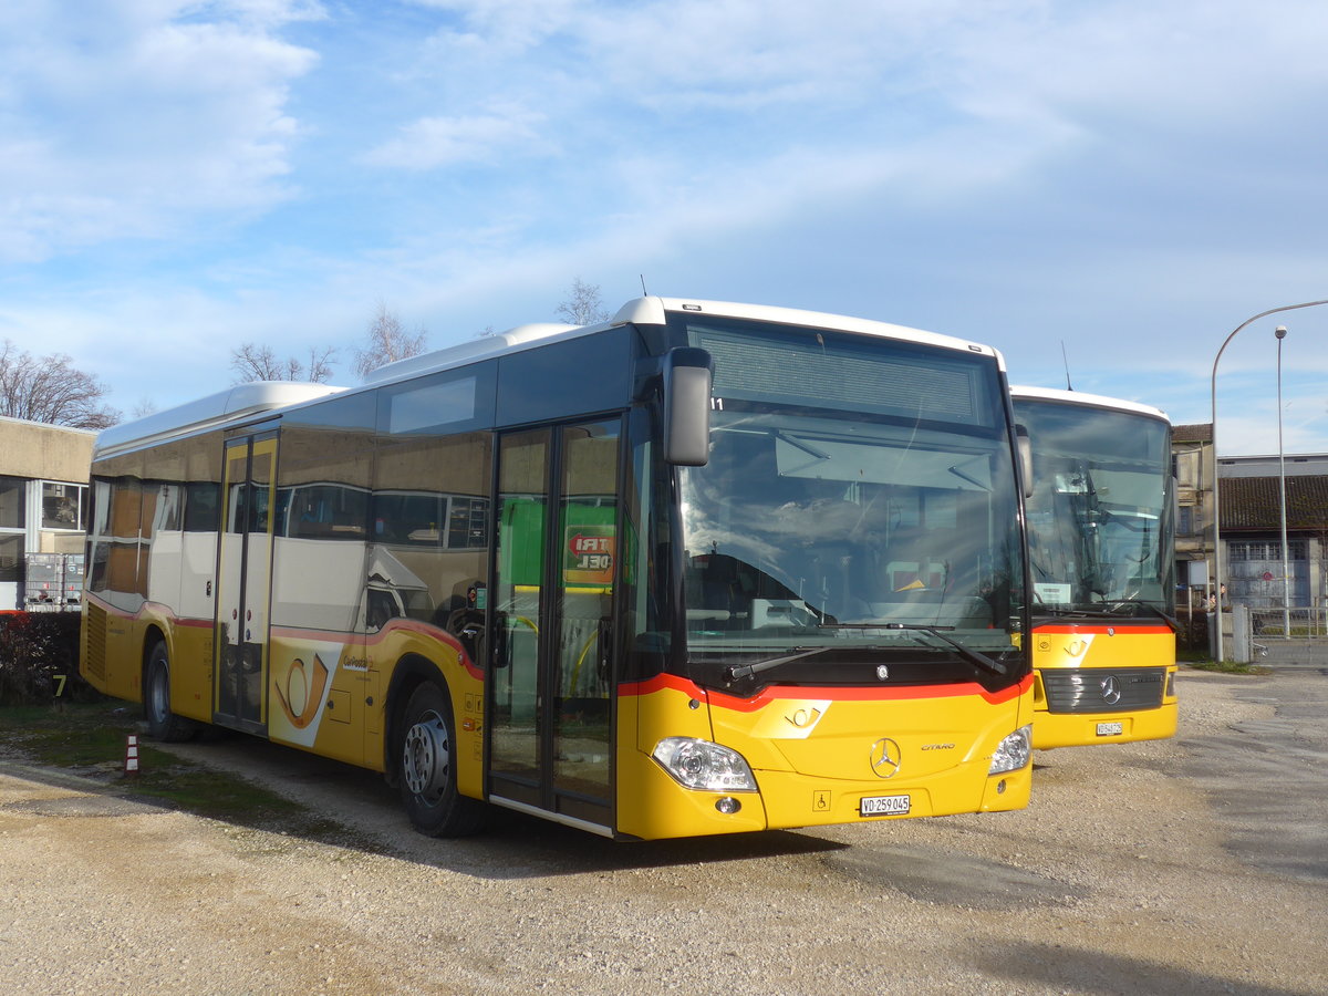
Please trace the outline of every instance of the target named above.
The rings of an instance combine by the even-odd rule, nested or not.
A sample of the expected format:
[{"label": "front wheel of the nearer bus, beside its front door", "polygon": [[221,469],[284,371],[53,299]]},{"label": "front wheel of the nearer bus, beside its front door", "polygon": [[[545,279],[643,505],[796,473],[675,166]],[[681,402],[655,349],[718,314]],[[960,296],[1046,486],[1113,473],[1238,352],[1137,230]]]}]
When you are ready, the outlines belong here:
[{"label": "front wheel of the nearer bus, beside its front door", "polygon": [[483,826],[485,806],[457,791],[457,736],[448,693],[426,681],[402,716],[401,798],[410,823],[430,837],[466,837]]}]

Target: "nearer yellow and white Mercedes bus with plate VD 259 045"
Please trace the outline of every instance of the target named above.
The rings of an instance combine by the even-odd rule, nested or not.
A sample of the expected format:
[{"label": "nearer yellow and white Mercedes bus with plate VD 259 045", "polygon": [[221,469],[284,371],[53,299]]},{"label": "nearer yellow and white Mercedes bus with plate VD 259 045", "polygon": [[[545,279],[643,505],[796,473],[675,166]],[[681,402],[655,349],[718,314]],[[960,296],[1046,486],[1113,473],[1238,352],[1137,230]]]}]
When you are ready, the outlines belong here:
[{"label": "nearer yellow and white Mercedes bus with plate VD 259 045", "polygon": [[82,671],[493,806],[655,839],[1027,805],[1019,458],[997,352],[641,297],[353,389],[108,429]]}]

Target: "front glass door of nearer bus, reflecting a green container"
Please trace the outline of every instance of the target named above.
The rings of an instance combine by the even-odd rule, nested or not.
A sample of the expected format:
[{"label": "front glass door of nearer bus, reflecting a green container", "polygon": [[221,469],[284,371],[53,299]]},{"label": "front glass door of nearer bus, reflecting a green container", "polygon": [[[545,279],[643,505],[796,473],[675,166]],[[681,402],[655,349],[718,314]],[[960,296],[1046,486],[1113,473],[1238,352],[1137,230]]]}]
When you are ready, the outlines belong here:
[{"label": "front glass door of nearer bus, reflecting a green container", "polygon": [[490,798],[591,829],[614,815],[619,437],[612,420],[498,448]]}]

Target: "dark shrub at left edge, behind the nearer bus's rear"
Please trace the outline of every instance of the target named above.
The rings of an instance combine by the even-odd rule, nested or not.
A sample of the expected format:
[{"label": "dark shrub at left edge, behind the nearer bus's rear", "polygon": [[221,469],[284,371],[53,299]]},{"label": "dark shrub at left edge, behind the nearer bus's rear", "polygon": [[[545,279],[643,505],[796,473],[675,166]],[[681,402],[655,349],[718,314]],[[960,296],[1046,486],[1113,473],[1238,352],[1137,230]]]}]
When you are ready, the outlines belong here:
[{"label": "dark shrub at left edge, behind the nearer bus's rear", "polygon": [[[0,615],[0,705],[100,699],[78,673],[78,612]],[[61,681],[60,676],[64,676]]]}]

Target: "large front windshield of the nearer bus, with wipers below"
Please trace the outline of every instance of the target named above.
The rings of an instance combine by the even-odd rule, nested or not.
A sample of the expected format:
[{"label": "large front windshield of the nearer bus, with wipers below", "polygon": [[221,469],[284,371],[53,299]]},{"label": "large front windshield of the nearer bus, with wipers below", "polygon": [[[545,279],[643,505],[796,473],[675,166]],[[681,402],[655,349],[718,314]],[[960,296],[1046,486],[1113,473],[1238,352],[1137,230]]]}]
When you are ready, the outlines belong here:
[{"label": "large front windshield of the nearer bus, with wipers below", "polygon": [[1013,673],[1024,575],[995,359],[688,325],[714,359],[709,463],[680,471],[689,657]]}]

